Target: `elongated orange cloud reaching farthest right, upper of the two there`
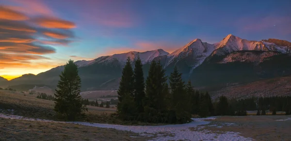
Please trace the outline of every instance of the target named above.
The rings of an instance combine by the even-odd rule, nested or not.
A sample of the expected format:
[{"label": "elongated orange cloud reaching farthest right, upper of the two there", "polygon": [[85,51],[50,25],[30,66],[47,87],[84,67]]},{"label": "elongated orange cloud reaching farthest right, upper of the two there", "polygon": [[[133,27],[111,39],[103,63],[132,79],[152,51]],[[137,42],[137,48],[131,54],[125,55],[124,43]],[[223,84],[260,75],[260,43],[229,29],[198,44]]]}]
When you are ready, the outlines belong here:
[{"label": "elongated orange cloud reaching farthest right, upper of the two there", "polygon": [[62,28],[62,29],[76,28],[76,25],[73,22],[53,17],[39,17],[33,19],[33,22],[43,28]]}]

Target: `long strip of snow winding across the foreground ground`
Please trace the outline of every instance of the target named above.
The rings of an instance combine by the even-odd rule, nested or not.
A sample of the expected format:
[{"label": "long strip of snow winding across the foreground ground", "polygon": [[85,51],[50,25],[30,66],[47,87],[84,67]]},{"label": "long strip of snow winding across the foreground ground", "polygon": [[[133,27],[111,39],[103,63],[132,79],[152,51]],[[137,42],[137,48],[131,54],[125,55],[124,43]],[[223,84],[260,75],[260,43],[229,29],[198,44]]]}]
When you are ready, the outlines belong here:
[{"label": "long strip of snow winding across the foreground ground", "polygon": [[[23,116],[2,114],[2,113],[0,113],[0,117],[8,118],[8,119],[21,119],[21,120],[41,121],[41,122],[56,122],[52,120],[24,118]],[[71,123],[71,124],[78,124],[78,125],[91,126],[91,127],[114,128],[117,130],[132,131],[135,133],[139,133],[142,136],[157,135],[157,137],[152,141],[169,141],[169,140],[251,141],[252,140],[250,138],[244,138],[242,136],[239,136],[239,134],[235,132],[215,134],[215,133],[206,133],[204,131],[191,131],[189,129],[190,127],[197,127],[199,125],[209,124],[210,123],[209,121],[204,121],[207,119],[215,119],[215,117],[193,118],[194,121],[191,123],[180,124],[180,125],[165,125],[165,126],[123,126],[123,125],[98,124],[98,123],[88,123],[88,122],[57,122],[57,123]],[[167,134],[171,134],[171,136]]]}]

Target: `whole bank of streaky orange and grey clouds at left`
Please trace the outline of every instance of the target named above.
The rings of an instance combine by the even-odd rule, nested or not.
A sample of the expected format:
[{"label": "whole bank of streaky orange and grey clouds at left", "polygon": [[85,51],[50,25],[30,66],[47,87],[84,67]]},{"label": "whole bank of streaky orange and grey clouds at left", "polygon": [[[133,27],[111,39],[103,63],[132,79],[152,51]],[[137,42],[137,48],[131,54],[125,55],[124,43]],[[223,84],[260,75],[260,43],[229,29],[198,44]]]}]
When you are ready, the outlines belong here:
[{"label": "whole bank of streaky orange and grey clouds at left", "polygon": [[[44,55],[56,53],[54,45],[68,46],[73,42],[75,36],[70,29],[76,25],[41,9],[46,6],[37,0],[16,1],[25,7],[0,5],[0,68],[5,68],[0,74],[55,67],[55,62],[47,64],[50,58]],[[36,17],[30,16],[35,14]]]}]

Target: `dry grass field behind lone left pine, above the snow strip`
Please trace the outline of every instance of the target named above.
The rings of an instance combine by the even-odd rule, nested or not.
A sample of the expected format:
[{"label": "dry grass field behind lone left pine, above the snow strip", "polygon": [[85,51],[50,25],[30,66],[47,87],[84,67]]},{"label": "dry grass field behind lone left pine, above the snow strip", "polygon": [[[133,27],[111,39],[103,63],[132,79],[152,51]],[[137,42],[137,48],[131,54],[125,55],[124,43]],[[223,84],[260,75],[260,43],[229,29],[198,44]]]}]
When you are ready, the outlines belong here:
[{"label": "dry grass field behind lone left pine, above the snow strip", "polygon": [[[37,99],[36,95],[0,90],[0,110],[14,110],[14,114],[24,117],[62,121],[56,118],[53,107],[54,101]],[[163,125],[120,120],[117,118],[114,108],[95,106],[87,106],[87,108],[88,112],[85,113],[85,117],[78,121],[118,125]]]}]

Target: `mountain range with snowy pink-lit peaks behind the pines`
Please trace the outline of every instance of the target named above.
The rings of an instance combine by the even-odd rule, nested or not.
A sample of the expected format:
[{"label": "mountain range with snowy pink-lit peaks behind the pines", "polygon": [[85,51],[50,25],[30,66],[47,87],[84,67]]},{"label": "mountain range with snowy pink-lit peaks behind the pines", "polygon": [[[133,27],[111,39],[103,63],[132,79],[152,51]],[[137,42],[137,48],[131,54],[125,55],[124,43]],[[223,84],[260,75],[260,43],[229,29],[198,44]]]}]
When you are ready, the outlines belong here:
[{"label": "mountain range with snowy pink-lit peaks behind the pines", "polygon": [[[160,61],[169,75],[174,66],[183,73],[184,81],[191,80],[199,89],[217,90],[238,85],[291,75],[291,42],[268,39],[248,41],[232,34],[221,42],[210,44],[195,39],[169,54],[162,49],[100,56],[94,60],[79,60],[82,91],[117,89],[127,57],[132,62],[140,56],[145,77],[151,61]],[[133,64],[133,63],[132,63]],[[24,74],[6,85],[43,84],[55,88],[64,66],[37,75]]]}]

